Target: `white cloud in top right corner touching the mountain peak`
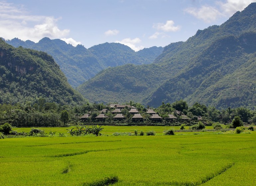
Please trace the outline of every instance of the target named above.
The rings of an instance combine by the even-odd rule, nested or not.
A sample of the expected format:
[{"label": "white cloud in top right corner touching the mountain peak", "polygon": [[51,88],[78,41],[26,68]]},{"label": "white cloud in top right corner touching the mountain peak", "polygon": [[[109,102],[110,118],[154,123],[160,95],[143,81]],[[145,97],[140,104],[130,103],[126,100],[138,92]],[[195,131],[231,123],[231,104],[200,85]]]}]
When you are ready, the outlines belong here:
[{"label": "white cloud in top right corner touching the mountain peak", "polygon": [[217,4],[221,6],[221,9],[231,16],[237,11],[242,11],[250,3],[256,2],[255,0],[226,0],[225,3],[217,1]]}]

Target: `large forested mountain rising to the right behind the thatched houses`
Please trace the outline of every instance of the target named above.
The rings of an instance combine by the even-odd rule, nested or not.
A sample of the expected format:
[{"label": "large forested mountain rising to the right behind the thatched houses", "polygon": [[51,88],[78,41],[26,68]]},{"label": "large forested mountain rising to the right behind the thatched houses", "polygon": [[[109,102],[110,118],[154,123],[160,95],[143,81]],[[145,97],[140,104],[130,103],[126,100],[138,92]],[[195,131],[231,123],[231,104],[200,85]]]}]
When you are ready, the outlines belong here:
[{"label": "large forested mountain rising to the right behind the thatched houses", "polygon": [[[126,73],[134,67],[110,68],[78,87],[78,90],[88,95],[90,101],[109,102],[113,101],[109,97],[114,95],[118,102],[134,98],[144,105],[155,107],[162,101],[172,103],[185,99],[190,104],[198,101],[217,108],[253,108],[255,33],[256,3],[252,3],[220,26],[198,30],[186,42],[166,46],[154,64],[136,66],[134,70],[140,69],[141,76]],[[152,68],[152,65],[156,66]],[[103,78],[104,82],[99,81]],[[129,89],[134,84],[131,79],[139,79],[139,85],[147,87],[144,92],[138,94]],[[122,88],[118,91],[107,88],[116,86]]]}]

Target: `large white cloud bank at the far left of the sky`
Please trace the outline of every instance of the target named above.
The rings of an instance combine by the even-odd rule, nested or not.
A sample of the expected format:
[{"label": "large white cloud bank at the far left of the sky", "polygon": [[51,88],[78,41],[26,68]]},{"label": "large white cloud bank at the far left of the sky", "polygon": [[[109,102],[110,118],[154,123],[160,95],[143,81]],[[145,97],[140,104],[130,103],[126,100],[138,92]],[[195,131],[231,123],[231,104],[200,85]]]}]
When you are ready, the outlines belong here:
[{"label": "large white cloud bank at the far left of the sky", "polygon": [[4,39],[19,38],[38,42],[44,37],[65,37],[69,30],[58,28],[59,19],[61,18],[28,15],[22,5],[0,2],[0,35]]}]

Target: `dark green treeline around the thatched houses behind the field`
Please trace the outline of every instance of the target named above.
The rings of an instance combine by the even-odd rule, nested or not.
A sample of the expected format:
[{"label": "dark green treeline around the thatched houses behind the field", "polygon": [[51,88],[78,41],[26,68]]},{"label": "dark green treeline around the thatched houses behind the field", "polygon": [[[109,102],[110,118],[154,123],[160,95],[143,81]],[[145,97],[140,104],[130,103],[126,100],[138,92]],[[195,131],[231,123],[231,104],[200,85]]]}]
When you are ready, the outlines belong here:
[{"label": "dark green treeline around the thatched houses behind the field", "polygon": [[[150,120],[150,115],[147,114],[147,109],[140,103],[124,103],[126,105],[134,106],[137,108],[141,116],[143,117],[143,125],[159,124],[159,125],[181,125],[184,120],[181,120],[180,116],[175,112],[181,111],[184,115],[187,115],[192,120],[191,125],[197,123],[197,116],[202,117],[202,121],[205,125],[212,125],[214,122],[222,124],[229,124],[236,117],[239,116],[244,124],[256,123],[256,111],[249,110],[244,107],[227,108],[223,110],[217,110],[214,107],[206,107],[200,103],[194,103],[191,107],[188,106],[184,100],[176,101],[174,103],[164,102],[158,108],[154,108],[156,114],[161,116],[163,120],[161,122],[155,122]],[[108,118],[99,122],[96,120],[96,116],[100,114],[102,109],[108,108],[105,113]],[[87,103],[83,105],[60,105],[57,103],[46,102],[46,99],[40,98],[33,102],[27,102],[26,104],[10,105],[0,104],[0,125],[9,123],[16,127],[64,127],[70,125],[81,124],[80,116],[89,113],[90,117],[86,121],[87,124],[91,123],[104,123],[108,124],[127,124],[134,123],[132,121],[132,114],[129,113],[128,107],[121,110],[122,114],[126,117],[123,121],[114,120],[115,114],[111,111],[114,108],[109,108],[108,105]],[[153,109],[153,108],[151,108]],[[164,118],[168,117],[168,114],[173,114],[178,119],[174,121],[167,121]],[[85,124],[86,124],[85,123]]]}]

